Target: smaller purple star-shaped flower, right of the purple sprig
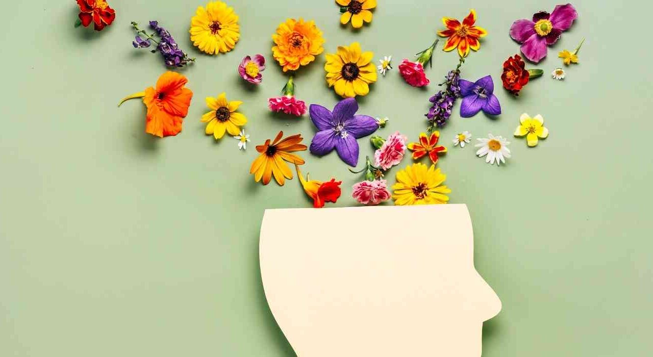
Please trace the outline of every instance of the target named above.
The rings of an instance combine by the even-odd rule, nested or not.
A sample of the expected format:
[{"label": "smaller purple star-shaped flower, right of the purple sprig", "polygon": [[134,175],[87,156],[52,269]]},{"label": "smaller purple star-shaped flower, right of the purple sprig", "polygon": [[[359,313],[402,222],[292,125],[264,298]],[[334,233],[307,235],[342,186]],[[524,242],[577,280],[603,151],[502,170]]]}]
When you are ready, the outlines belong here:
[{"label": "smaller purple star-shaped flower, right of the purple sprig", "polygon": [[461,117],[473,117],[481,110],[490,116],[501,114],[501,104],[494,95],[494,82],[491,76],[485,76],[476,82],[461,79],[458,80],[458,85],[462,97]]}]

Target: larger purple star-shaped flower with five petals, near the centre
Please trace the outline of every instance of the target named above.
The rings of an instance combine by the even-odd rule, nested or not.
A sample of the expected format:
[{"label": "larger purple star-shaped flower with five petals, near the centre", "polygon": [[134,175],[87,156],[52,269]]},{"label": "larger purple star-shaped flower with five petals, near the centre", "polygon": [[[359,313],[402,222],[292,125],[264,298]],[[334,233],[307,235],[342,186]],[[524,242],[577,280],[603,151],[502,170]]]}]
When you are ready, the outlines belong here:
[{"label": "larger purple star-shaped flower with five petals, near the centre", "polygon": [[319,131],[313,136],[311,153],[327,155],[334,148],[340,159],[349,166],[358,164],[358,142],[356,139],[368,136],[379,128],[371,116],[356,115],[356,99],[347,98],[338,102],[333,112],[327,108],[311,104],[308,112]]}]

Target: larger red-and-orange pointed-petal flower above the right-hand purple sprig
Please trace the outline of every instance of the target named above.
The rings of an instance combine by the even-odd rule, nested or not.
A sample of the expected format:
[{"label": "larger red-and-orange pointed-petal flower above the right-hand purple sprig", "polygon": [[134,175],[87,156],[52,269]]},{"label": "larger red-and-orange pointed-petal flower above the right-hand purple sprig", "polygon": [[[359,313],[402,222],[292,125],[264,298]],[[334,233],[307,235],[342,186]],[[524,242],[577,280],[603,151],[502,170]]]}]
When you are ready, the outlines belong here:
[{"label": "larger red-and-orange pointed-petal flower above the right-hand purple sprig", "polygon": [[441,37],[449,37],[443,50],[449,52],[458,48],[460,57],[467,57],[470,48],[478,51],[481,48],[479,39],[485,37],[488,32],[483,27],[474,26],[476,22],[476,12],[472,8],[470,14],[462,20],[462,24],[454,18],[442,18],[442,22],[447,26],[446,30],[438,31]]}]

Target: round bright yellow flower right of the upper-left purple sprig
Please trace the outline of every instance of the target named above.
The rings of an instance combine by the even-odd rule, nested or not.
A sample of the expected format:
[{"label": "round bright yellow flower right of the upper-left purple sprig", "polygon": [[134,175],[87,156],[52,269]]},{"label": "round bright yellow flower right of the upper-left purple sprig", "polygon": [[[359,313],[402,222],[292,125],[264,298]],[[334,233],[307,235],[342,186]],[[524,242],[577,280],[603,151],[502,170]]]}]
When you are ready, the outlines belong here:
[{"label": "round bright yellow flower right of the upper-left purple sprig", "polygon": [[238,15],[222,1],[197,7],[189,31],[193,45],[210,55],[231,51],[240,39]]}]

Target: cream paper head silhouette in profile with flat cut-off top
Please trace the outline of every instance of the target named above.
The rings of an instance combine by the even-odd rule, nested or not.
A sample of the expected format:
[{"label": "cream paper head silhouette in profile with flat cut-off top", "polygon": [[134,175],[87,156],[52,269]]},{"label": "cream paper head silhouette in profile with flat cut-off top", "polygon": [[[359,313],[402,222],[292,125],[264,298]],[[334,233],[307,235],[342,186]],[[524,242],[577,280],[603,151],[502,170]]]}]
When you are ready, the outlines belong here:
[{"label": "cream paper head silhouette in profile with flat cut-off top", "polygon": [[266,210],[259,250],[300,357],[479,357],[483,321],[501,310],[464,205]]}]

